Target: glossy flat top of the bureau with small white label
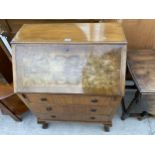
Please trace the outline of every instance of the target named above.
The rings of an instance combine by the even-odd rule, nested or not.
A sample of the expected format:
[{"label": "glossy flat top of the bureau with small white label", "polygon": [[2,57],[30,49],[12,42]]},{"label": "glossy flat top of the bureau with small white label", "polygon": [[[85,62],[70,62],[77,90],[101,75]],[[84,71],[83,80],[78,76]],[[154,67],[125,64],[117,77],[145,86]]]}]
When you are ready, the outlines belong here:
[{"label": "glossy flat top of the bureau with small white label", "polygon": [[25,24],[12,43],[126,43],[119,23]]}]

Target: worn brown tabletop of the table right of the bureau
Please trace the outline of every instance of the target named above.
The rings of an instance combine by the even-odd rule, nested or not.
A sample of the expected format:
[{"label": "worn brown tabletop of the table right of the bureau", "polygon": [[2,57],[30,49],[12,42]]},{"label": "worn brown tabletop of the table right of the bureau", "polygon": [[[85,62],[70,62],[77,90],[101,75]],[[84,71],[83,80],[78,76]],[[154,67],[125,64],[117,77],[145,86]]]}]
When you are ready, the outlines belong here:
[{"label": "worn brown tabletop of the table right of the bureau", "polygon": [[141,93],[155,93],[155,51],[128,52],[128,67]]}]

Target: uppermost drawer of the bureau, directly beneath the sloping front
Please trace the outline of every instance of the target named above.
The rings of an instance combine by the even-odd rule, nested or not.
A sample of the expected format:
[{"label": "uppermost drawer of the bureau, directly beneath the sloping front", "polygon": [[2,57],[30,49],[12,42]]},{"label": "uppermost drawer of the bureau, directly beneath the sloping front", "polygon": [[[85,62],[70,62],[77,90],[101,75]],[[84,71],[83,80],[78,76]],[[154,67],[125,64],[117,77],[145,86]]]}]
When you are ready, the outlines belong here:
[{"label": "uppermost drawer of the bureau, directly beneath the sloping front", "polygon": [[46,105],[102,105],[115,106],[120,103],[120,96],[88,96],[88,95],[51,95],[51,94],[26,94],[29,102]]}]

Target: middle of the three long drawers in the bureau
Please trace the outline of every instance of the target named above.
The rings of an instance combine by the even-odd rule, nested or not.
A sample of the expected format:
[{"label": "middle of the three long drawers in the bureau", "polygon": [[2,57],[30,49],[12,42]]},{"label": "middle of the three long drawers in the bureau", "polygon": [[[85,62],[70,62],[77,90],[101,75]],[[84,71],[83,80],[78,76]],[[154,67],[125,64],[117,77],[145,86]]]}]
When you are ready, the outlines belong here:
[{"label": "middle of the three long drawers in the bureau", "polygon": [[43,113],[43,114],[106,114],[111,115],[113,113],[114,107],[103,106],[103,105],[49,105],[49,104],[29,104],[29,108],[33,113]]}]

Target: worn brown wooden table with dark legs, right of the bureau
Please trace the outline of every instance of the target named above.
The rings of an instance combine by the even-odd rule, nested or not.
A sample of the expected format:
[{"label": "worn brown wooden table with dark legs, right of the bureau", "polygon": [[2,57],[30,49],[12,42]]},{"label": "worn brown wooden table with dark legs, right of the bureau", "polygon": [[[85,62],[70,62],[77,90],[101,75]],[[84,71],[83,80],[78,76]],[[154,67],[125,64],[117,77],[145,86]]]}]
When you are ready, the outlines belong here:
[{"label": "worn brown wooden table with dark legs, right of the bureau", "polygon": [[[129,51],[127,65],[132,75],[136,93],[127,108],[123,102],[122,120],[129,116],[137,116],[141,120],[145,116],[155,115],[155,51]],[[144,111],[131,113],[135,103],[143,104]]]}]

